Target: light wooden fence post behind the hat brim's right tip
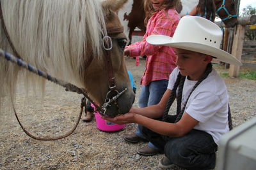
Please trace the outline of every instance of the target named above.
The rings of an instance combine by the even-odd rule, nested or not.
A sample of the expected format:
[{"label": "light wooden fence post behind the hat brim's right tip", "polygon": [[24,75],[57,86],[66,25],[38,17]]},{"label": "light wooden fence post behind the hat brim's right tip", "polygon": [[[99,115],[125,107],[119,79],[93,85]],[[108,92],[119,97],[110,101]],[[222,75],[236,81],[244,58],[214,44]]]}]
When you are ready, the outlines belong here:
[{"label": "light wooden fence post behind the hat brim's right tip", "polygon": [[[232,46],[232,55],[235,56],[238,60],[241,60],[242,52],[243,52],[243,42],[244,42],[244,25],[237,25],[236,32],[234,32],[233,46]],[[239,74],[240,66],[234,66],[230,64],[229,67],[229,76],[237,77]]]}]

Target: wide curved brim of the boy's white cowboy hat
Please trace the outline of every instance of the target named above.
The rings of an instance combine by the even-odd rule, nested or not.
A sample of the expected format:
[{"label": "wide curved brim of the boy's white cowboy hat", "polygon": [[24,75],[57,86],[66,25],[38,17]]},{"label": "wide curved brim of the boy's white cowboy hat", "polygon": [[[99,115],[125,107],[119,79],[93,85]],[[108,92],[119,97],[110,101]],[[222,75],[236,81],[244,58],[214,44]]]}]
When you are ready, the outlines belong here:
[{"label": "wide curved brim of the boy's white cowboy hat", "polygon": [[204,53],[207,55],[211,55],[212,57],[216,57],[218,60],[221,60],[223,62],[234,64],[236,66],[242,66],[242,63],[237,60],[236,57],[230,55],[230,53],[227,53],[224,50],[221,50],[220,48],[215,48],[214,46],[194,42],[175,42],[170,36],[163,35],[148,36],[147,42],[152,45],[172,46],[174,48],[181,48],[193,52]]}]

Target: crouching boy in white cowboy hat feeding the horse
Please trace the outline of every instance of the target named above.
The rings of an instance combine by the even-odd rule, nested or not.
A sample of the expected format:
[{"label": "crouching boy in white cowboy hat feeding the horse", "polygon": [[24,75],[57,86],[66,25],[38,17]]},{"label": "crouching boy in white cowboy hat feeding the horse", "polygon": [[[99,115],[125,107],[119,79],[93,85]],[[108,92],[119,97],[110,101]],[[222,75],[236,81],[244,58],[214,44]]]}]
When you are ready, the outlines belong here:
[{"label": "crouching boy in white cowboy hat feeding the horse", "polygon": [[[220,49],[221,38],[218,25],[192,16],[181,18],[173,38],[149,36],[149,43],[173,46],[177,52],[177,67],[170,74],[168,89],[159,104],[105,118],[117,124],[143,125],[140,128],[145,138],[165,153],[159,162],[164,169],[214,168],[218,141],[232,127],[227,87],[212,68],[211,60],[214,57],[239,66],[241,62]],[[177,114],[168,115],[175,98]]]}]

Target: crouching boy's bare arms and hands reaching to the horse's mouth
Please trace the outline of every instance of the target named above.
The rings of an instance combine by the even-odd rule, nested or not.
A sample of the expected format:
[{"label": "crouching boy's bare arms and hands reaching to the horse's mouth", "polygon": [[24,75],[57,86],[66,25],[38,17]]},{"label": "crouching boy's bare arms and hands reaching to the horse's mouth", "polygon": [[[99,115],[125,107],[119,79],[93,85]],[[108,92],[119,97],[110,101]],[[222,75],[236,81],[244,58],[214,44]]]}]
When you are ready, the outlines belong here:
[{"label": "crouching boy's bare arms and hands reaching to the horse's mouth", "polygon": [[198,124],[198,121],[184,113],[183,117],[176,124],[161,122],[153,118],[159,118],[163,115],[166,103],[172,90],[167,89],[159,104],[147,108],[132,108],[129,113],[115,118],[106,118],[109,122],[115,124],[136,123],[147,127],[148,129],[171,137],[179,137],[188,133]]}]

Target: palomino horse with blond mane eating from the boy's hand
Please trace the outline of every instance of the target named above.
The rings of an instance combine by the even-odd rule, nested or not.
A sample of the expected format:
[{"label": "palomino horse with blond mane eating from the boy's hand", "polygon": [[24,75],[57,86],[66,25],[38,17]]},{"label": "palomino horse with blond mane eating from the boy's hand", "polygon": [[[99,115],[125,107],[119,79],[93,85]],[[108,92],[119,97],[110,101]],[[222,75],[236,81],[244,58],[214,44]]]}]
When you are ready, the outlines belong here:
[{"label": "palomino horse with blond mane eating from the boy's hand", "polygon": [[[135,95],[124,62],[127,40],[116,15],[126,2],[0,0],[0,48],[85,89],[99,106],[124,92],[115,103],[107,104],[105,114],[127,113]],[[15,96],[20,72],[25,82],[44,89],[39,76],[1,58],[0,66],[0,101]]]}]

